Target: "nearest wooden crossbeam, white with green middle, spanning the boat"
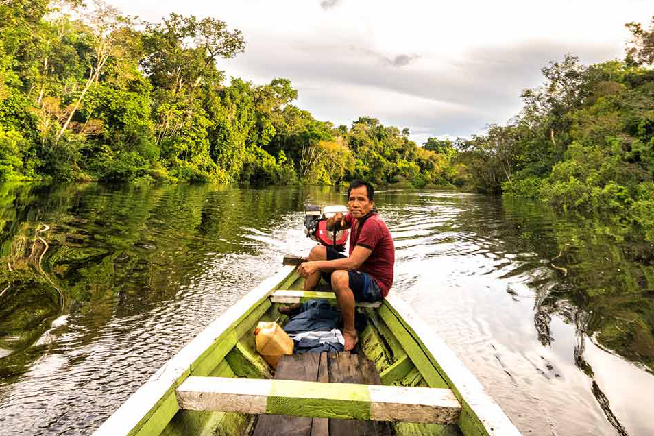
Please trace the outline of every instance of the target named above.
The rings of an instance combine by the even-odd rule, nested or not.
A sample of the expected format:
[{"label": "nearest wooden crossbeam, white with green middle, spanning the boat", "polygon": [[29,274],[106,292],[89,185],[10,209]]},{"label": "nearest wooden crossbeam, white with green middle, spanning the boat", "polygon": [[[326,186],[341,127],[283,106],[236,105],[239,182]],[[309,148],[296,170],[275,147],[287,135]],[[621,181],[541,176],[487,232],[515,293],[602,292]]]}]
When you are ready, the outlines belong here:
[{"label": "nearest wooden crossbeam, white with green middle, spanning the boat", "polygon": [[450,389],[190,376],[180,409],[354,420],[455,424],[461,405]]}]

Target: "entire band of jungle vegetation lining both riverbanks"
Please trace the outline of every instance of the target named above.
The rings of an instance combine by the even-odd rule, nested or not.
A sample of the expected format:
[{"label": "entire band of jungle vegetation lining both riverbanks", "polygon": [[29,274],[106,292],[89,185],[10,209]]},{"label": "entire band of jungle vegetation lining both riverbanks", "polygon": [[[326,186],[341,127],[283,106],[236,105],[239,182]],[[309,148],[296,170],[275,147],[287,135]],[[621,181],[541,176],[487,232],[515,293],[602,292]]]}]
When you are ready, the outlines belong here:
[{"label": "entire band of jungle vegetation lining both riverbanks", "polygon": [[[105,3],[0,5],[0,182],[457,186],[617,213],[654,228],[654,21],[629,23],[625,60],[542,69],[507,125],[454,141],[360,117],[332,125],[293,104],[284,78],[226,77],[238,30],[171,14],[159,23]],[[654,237],[654,230],[651,232]]]}]

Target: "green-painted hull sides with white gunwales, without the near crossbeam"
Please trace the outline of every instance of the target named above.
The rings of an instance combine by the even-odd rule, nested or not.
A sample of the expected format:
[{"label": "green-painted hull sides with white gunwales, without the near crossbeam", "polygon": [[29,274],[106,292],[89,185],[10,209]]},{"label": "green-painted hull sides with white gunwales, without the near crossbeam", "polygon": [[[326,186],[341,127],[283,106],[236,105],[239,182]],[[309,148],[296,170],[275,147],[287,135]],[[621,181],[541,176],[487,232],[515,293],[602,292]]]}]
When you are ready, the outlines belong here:
[{"label": "green-painted hull sides with white gunwales, without the near crossbeam", "polygon": [[[287,322],[274,294],[301,290],[302,284],[296,267],[286,266],[247,293],[128,398],[95,436],[252,433],[257,415],[180,409],[175,389],[189,376],[272,378],[274,370],[256,352],[254,328],[259,321]],[[300,300],[310,297],[315,294]],[[360,333],[361,352],[374,361],[383,385],[451,389],[461,404],[457,424],[395,422],[396,434],[520,435],[479,381],[400,298],[391,293],[380,306],[357,311],[369,321]]]}]

